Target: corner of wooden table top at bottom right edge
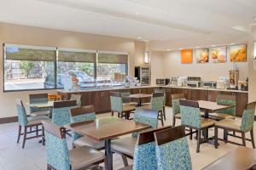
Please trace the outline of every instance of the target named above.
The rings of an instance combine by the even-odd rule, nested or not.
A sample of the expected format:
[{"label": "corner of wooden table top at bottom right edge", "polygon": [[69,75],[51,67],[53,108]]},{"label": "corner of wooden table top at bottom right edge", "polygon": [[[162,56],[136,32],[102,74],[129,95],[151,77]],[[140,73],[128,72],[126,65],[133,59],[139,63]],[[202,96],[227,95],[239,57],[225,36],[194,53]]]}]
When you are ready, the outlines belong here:
[{"label": "corner of wooden table top at bottom right edge", "polygon": [[255,163],[256,150],[239,146],[203,169],[246,170]]}]

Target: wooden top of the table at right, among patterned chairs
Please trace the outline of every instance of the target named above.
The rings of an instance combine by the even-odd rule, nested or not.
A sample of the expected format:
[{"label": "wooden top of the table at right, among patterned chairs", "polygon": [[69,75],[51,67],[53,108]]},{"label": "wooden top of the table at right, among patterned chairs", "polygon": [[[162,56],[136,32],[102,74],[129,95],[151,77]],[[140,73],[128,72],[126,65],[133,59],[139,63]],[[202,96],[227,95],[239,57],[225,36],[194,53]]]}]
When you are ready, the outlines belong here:
[{"label": "wooden top of the table at right, among patterned chairs", "polygon": [[205,100],[199,100],[198,104],[200,109],[213,111],[213,112],[234,107],[233,105],[218,105],[217,102],[205,101]]}]

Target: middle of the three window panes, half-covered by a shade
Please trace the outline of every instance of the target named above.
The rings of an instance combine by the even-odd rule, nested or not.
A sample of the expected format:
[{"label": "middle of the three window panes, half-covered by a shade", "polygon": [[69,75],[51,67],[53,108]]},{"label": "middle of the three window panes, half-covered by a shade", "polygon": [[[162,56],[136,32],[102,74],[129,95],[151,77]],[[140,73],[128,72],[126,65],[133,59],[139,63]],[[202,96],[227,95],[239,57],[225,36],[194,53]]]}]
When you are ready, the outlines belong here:
[{"label": "middle of the three window panes, half-covered by a shade", "polygon": [[57,88],[64,88],[64,82],[73,73],[80,88],[95,86],[96,51],[59,49],[57,59]]}]

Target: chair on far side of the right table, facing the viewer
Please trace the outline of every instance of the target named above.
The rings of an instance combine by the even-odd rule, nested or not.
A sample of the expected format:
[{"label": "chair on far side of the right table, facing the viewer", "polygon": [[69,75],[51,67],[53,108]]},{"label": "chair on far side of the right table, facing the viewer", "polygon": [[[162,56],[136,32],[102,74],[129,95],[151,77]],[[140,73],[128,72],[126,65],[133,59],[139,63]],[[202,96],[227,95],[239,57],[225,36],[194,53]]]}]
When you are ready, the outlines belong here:
[{"label": "chair on far side of the right table, facing the viewer", "polygon": [[220,121],[223,119],[235,119],[236,117],[236,96],[227,94],[218,94],[216,98],[218,105],[233,105],[234,107],[219,110],[211,113],[209,118]]}]

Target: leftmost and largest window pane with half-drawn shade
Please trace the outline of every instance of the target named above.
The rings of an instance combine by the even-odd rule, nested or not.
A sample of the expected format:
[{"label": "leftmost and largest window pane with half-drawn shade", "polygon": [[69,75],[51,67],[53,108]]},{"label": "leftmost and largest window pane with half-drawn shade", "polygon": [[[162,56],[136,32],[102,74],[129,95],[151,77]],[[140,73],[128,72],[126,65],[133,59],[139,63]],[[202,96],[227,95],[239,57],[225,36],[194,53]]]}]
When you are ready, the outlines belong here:
[{"label": "leftmost and largest window pane with half-drawn shade", "polygon": [[55,49],[4,44],[4,91],[55,88]]}]

